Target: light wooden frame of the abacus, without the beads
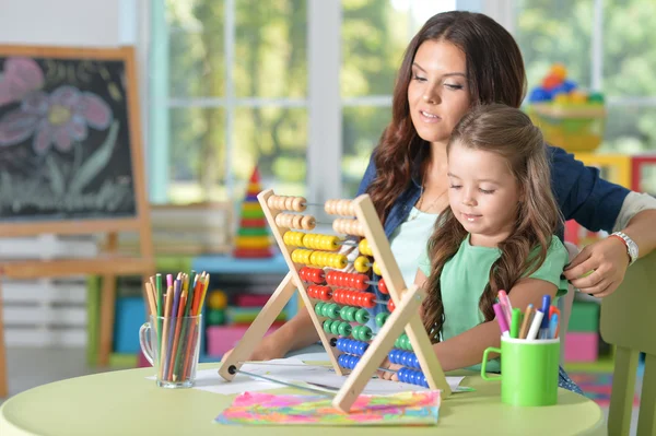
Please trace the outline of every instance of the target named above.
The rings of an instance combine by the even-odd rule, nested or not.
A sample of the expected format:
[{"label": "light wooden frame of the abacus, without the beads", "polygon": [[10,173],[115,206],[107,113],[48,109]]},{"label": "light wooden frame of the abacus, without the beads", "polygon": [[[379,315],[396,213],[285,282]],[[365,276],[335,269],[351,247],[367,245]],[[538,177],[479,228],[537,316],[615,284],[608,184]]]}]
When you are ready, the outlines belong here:
[{"label": "light wooden frame of the abacus, without the beads", "polygon": [[[222,362],[222,365],[219,368],[219,375],[229,381],[233,380],[236,375],[236,369],[242,366],[243,362],[250,357],[255,346],[263,338],[278,315],[283,310],[295,290],[298,291],[303,298],[305,307],[314,307],[313,299],[307,295],[305,283],[298,275],[300,266],[292,261],[291,250],[284,244],[282,235],[286,229],[283,229],[276,224],[276,215],[281,211],[272,210],[268,205],[268,199],[273,195],[273,190],[268,189],[260,192],[257,197],[262,211],[265,212],[265,216],[269,222],[269,226],[271,227],[271,233],[290,268],[290,272],[271,295],[233,352]],[[358,399],[358,396],[362,392],[371,377],[376,373],[378,365],[385,360],[387,353],[391,350],[396,339],[402,330],[408,334],[408,339],[412,344],[412,350],[417,355],[421,369],[426,377],[429,387],[431,389],[441,389],[442,396],[444,398],[448,397],[452,393],[450,388],[419,316],[419,307],[425,297],[425,293],[414,285],[409,288],[406,287],[406,283],[403,282],[399,267],[394,259],[389,243],[385,236],[385,232],[383,231],[383,226],[380,225],[380,221],[371,198],[367,195],[362,195],[352,200],[352,205],[355,217],[362,223],[365,237],[368,240],[371,250],[374,254],[374,259],[380,269],[389,296],[396,308],[378,334],[376,334],[371,342],[355,368],[347,378],[344,385],[332,400],[332,405],[343,412],[350,411],[352,404]],[[321,321],[319,321],[314,310],[308,310],[308,314],[319,339],[328,353],[328,357],[335,372],[338,375],[344,375],[344,369],[339,366],[337,361],[341,353],[337,347],[331,346],[331,339],[335,338],[335,335],[326,334]]]}]

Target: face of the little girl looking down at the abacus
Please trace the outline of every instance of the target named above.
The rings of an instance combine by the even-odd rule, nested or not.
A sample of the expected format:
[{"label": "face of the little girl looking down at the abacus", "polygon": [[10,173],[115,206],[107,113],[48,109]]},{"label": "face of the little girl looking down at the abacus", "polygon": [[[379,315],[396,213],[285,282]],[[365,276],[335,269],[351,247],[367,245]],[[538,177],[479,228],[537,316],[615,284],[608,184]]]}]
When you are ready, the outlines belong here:
[{"label": "face of the little girl looking down at the abacus", "polygon": [[448,201],[471,243],[495,247],[513,231],[520,189],[505,158],[454,143],[448,153]]}]

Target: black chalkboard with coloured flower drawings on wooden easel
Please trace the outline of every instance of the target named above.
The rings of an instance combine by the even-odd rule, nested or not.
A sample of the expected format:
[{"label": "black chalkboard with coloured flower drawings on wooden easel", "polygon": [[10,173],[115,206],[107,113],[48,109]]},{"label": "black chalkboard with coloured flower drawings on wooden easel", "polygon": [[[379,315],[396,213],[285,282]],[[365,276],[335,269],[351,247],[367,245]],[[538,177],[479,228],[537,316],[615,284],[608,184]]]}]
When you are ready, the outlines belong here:
[{"label": "black chalkboard with coloured flower drawings on wooden easel", "polygon": [[0,47],[0,224],[136,216],[134,78],[114,54]]}]

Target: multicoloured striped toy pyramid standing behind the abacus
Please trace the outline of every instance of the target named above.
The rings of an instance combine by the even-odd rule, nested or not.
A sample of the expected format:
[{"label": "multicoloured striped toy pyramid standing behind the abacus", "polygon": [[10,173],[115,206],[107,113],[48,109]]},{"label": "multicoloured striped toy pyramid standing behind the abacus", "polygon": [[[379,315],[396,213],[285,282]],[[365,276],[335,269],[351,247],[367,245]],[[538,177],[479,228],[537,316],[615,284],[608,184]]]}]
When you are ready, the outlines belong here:
[{"label": "multicoloured striped toy pyramid standing behind the abacus", "polygon": [[273,256],[273,241],[265,212],[257,200],[261,191],[260,175],[257,166],[253,169],[246,198],[242,202],[239,227],[235,237],[233,257],[235,258],[270,258]]}]

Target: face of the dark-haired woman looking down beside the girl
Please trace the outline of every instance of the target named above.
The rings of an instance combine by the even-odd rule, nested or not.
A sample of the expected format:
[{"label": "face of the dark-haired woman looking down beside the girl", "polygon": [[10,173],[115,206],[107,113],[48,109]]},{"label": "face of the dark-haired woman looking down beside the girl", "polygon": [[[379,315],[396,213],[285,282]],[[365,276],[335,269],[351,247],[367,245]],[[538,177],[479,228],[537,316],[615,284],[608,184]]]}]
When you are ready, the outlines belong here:
[{"label": "face of the dark-haired woman looking down beside the girl", "polygon": [[446,143],[471,106],[465,54],[452,43],[426,40],[419,46],[408,85],[410,117],[421,139]]}]

